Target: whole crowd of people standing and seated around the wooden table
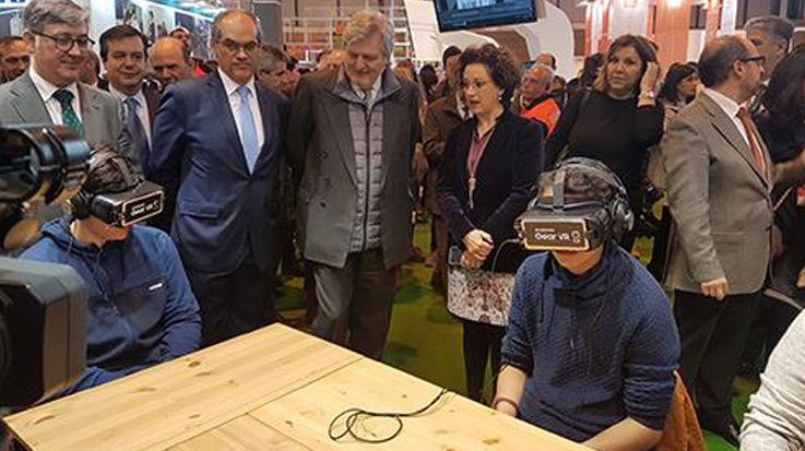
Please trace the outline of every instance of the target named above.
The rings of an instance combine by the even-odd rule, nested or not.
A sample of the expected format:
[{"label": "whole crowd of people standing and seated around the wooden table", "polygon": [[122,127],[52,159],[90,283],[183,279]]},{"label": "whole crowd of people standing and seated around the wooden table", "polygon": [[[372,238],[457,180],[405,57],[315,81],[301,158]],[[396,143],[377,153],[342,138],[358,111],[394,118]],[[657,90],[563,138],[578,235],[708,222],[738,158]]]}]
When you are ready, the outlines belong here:
[{"label": "whole crowd of people standing and seated around the wooden table", "polygon": [[[687,434],[666,424],[685,393],[729,442],[805,443],[805,48],[788,21],[666,68],[624,35],[569,82],[551,54],[494,45],[392,68],[371,11],[310,73],[240,10],[215,17],[214,61],[184,28],[152,43],[114,26],[95,54],[71,0],[31,1],[24,28],[0,38],[0,124],[93,147],[69,211],[38,211],[21,254],[87,286],[87,369],[63,394],[276,321],[280,269],[305,276],[316,335],[380,359],[425,217],[470,397],[597,450]],[[165,193],[147,225],[94,214],[146,180]],[[525,251],[530,209],[582,212],[595,245]],[[763,367],[742,434],[732,382]]]}]

